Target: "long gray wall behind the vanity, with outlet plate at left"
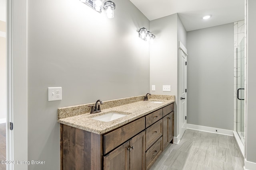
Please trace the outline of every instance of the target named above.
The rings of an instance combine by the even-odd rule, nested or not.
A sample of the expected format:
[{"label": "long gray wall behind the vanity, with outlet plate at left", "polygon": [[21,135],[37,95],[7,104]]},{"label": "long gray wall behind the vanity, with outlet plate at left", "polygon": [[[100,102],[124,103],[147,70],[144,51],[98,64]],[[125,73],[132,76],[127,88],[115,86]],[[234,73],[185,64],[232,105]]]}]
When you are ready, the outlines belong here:
[{"label": "long gray wall behind the vanity, with outlet plate at left", "polygon": [[[138,29],[148,19],[129,1],[114,0],[115,17],[79,0],[28,0],[28,160],[60,169],[57,108],[149,92],[149,44]],[[62,87],[48,102],[47,88]]]}]

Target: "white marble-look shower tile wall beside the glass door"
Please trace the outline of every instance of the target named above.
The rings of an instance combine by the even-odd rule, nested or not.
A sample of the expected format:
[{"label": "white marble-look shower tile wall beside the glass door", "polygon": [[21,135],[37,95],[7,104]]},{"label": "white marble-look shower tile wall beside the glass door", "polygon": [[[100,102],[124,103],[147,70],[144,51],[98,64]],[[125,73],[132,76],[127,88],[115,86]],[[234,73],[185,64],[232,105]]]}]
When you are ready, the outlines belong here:
[{"label": "white marble-look shower tile wall beside the glass door", "polygon": [[237,103],[237,84],[239,84],[240,82],[240,76],[237,75],[237,72],[240,72],[242,70],[240,69],[240,66],[239,66],[240,60],[238,59],[240,59],[239,58],[240,53],[238,51],[238,54],[237,54],[237,48],[244,37],[245,37],[244,20],[234,22],[234,131],[240,130],[240,129],[236,129],[237,123],[240,122],[240,117],[237,117],[237,111],[239,111],[239,109],[241,108],[240,104]]}]

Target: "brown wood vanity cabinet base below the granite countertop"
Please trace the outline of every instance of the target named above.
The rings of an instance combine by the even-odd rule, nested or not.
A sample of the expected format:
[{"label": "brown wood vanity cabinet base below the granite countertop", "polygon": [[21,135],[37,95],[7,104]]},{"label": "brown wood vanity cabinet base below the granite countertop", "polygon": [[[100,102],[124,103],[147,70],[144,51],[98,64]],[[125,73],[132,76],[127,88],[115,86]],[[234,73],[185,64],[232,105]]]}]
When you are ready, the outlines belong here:
[{"label": "brown wood vanity cabinet base below the granite countertop", "polygon": [[61,170],[148,170],[173,134],[174,104],[103,135],[61,124]]}]

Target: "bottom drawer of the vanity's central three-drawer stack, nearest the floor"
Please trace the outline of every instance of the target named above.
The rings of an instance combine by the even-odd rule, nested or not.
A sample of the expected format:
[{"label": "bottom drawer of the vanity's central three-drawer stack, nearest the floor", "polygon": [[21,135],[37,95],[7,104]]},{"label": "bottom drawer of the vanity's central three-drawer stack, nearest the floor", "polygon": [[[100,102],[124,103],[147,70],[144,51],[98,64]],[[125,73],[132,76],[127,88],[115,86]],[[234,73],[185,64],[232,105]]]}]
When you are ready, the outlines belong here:
[{"label": "bottom drawer of the vanity's central three-drawer stack, nearest the floor", "polygon": [[148,170],[163,151],[162,137],[148,151],[146,151],[146,169]]}]

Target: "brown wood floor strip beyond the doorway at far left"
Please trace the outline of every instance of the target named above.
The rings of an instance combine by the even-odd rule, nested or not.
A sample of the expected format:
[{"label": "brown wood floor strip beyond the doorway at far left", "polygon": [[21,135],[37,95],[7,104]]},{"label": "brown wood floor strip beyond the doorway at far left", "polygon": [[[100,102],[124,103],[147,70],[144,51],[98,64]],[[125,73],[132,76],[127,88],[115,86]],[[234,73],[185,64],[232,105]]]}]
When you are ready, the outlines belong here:
[{"label": "brown wood floor strip beyond the doorway at far left", "polygon": [[[6,127],[0,123],[0,160],[6,160]],[[0,170],[6,170],[5,164],[0,164]]]}]

